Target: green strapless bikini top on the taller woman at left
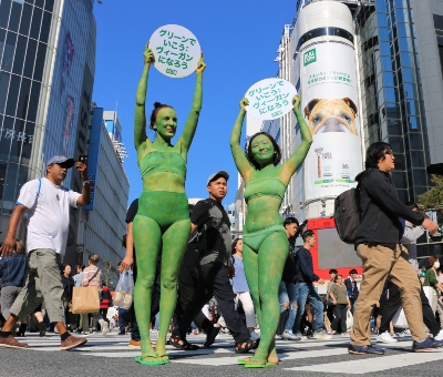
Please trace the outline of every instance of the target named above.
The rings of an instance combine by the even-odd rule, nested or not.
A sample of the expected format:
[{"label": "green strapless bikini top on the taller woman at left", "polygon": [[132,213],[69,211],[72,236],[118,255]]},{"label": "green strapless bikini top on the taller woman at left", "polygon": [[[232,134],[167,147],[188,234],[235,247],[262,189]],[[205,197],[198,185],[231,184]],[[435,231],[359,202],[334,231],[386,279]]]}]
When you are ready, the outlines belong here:
[{"label": "green strapless bikini top on the taller woman at left", "polygon": [[178,174],[186,180],[186,162],[182,154],[168,151],[152,151],[140,162],[142,177],[158,172]]}]

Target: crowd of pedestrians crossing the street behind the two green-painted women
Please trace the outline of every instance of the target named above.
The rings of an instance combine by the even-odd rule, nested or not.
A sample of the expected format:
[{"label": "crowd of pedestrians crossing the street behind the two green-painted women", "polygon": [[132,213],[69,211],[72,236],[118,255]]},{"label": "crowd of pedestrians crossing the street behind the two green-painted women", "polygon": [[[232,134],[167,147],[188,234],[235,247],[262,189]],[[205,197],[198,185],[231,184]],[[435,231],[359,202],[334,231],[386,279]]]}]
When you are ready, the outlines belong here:
[{"label": "crowd of pedestrians crossing the street behind the two green-painted women", "polygon": [[[383,354],[382,348],[370,343],[371,319],[377,318],[373,325],[378,332],[377,342],[394,343],[398,334],[393,317],[403,309],[409,324],[409,333],[403,334],[412,336],[413,350],[443,346],[443,274],[440,261],[436,256],[427,258],[421,284],[416,257],[416,240],[425,230],[435,232],[435,224],[420,214],[415,203],[403,204],[396,198],[389,175],[393,161],[390,146],[375,143],[368,150],[367,170],[358,176],[360,206],[365,208],[356,243],[357,254],[363,262],[363,279],[359,278],[356,269],[351,269],[344,278],[332,268],[330,281],[324,282],[315,273],[310,252],[316,245],[316,233],[306,230],[305,224],[299,225],[295,217],[284,220],[289,251],[278,289],[280,323],[277,333],[281,339],[330,339],[341,334],[351,337],[350,354]],[[30,324],[27,325],[31,316],[37,318],[35,328],[41,336],[45,335],[47,326],[60,334],[61,349],[86,343],[85,337],[70,332],[87,335],[100,328],[102,335],[106,335],[115,320],[114,315],[107,316],[113,299],[103,282],[99,255],[91,255],[86,267],[76,266],[74,274],[71,265],[60,267],[59,264],[66,243],[69,206],[87,203],[90,195],[87,184],[83,185],[81,194],[61,185],[66,170],[74,165],[86,181],[84,163],[55,156],[48,163],[47,176],[27,183],[20,192],[1,246],[1,314],[4,320],[0,346],[27,347],[16,337],[24,335],[28,326],[31,328]],[[226,328],[235,339],[236,353],[255,349],[260,342],[260,323],[245,274],[244,241],[231,241],[229,218],[222,205],[228,179],[225,171],[212,174],[207,180],[209,197],[198,202],[190,211],[192,234],[179,271],[178,305],[169,338],[172,346],[183,350],[198,348],[186,339],[192,327],[195,327],[194,334],[206,334],[205,346],[213,345],[219,332]],[[16,230],[27,210],[30,210],[30,216],[24,245],[16,238]],[[126,218],[126,256],[117,266],[119,274],[131,268],[135,281],[137,264],[132,222],[136,213],[137,201],[134,201]],[[60,224],[55,230],[49,225],[51,216],[54,224]],[[371,232],[368,232],[369,227]],[[301,247],[295,245],[298,236],[302,240]],[[159,312],[159,265],[161,259],[151,305],[153,328]],[[321,297],[316,286],[326,283],[326,295]],[[74,286],[99,287],[100,310],[73,315]],[[423,289],[423,286],[430,289]],[[128,345],[140,347],[133,306],[119,308],[115,315],[119,334],[131,333]]]}]

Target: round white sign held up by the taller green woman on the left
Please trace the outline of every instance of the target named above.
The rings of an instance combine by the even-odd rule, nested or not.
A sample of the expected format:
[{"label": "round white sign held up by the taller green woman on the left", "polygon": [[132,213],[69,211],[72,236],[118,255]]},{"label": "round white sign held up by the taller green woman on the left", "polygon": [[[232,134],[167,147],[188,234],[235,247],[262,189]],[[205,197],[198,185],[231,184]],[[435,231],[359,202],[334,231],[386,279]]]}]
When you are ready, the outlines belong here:
[{"label": "round white sign held up by the taller green woman on the left", "polygon": [[165,24],[150,39],[154,67],[169,78],[185,78],[197,69],[202,50],[197,38],[179,24]]}]

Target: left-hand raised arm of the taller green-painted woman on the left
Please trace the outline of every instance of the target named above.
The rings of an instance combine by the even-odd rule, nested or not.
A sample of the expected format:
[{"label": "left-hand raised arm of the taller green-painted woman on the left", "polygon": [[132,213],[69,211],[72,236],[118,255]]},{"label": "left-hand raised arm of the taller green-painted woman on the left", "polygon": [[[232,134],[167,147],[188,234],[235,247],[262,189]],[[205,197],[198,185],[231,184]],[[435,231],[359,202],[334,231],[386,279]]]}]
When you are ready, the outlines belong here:
[{"label": "left-hand raised arm of the taller green-painted woman on the left", "polygon": [[144,143],[147,139],[146,135],[146,112],[145,112],[145,102],[146,102],[146,89],[147,89],[147,77],[150,73],[151,64],[154,62],[154,53],[150,49],[150,42],[145,45],[144,57],[144,67],[142,78],[140,79],[137,93],[135,96],[135,116],[134,116],[134,145],[135,150],[138,151],[138,147],[142,143]]}]

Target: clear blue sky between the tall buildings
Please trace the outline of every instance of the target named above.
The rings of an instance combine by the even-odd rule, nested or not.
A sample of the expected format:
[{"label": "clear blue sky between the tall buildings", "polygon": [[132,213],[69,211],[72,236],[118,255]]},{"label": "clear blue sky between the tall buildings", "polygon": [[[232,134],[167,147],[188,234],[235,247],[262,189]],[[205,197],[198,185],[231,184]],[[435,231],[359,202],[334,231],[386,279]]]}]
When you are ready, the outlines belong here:
[{"label": "clear blue sky between the tall buildings", "polygon": [[[207,177],[219,170],[229,173],[224,204],[234,202],[238,185],[237,169],[229,136],[238,115],[239,101],[254,83],[275,78],[277,49],[285,24],[291,24],[296,1],[148,1],[102,0],[94,4],[96,60],[93,101],[104,110],[117,110],[123,143],[128,157],[124,169],[130,180],[128,204],[140,196],[143,185],[133,143],[135,91],[143,70],[143,52],[152,33],[165,24],[179,24],[198,39],[205,54],[203,109],[188,153],[186,193],[207,197]],[[182,134],[190,111],[195,73],[172,79],[151,68],[146,116],[154,102],[174,106]],[[245,122],[246,123],[246,122]],[[243,142],[246,124],[243,130]],[[155,136],[148,131],[151,140]]]}]

